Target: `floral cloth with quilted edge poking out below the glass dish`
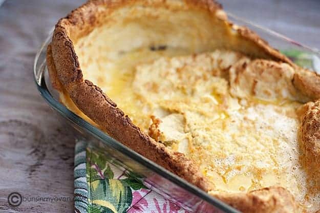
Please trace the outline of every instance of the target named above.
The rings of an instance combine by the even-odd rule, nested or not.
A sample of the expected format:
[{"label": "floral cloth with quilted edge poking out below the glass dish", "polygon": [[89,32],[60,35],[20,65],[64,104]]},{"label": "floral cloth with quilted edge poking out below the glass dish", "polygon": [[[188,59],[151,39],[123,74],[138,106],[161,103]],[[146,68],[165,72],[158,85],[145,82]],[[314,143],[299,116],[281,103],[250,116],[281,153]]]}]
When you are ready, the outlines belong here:
[{"label": "floral cloth with quilted edge poking out below the glass dish", "polygon": [[187,212],[148,189],[134,174],[112,164],[112,159],[85,141],[76,143],[74,165],[77,213]]}]

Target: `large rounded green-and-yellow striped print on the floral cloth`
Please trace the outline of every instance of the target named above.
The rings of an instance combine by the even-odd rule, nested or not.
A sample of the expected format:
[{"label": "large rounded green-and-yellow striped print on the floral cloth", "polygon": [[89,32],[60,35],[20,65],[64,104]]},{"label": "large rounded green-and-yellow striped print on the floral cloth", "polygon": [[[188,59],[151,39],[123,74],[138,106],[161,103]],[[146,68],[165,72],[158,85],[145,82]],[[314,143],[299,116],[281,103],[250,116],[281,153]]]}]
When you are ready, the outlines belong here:
[{"label": "large rounded green-and-yellow striped print on the floral cloth", "polygon": [[91,196],[89,202],[92,207],[97,205],[100,212],[125,212],[132,203],[132,191],[123,180],[96,180],[90,184]]}]

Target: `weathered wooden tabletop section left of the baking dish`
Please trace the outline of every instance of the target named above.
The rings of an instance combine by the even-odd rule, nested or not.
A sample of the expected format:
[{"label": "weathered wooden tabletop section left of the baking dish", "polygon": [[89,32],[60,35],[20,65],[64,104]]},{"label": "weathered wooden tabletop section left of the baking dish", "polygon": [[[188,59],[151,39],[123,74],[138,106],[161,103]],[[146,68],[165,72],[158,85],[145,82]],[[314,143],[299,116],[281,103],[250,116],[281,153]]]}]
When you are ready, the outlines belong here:
[{"label": "weathered wooden tabletop section left of the baking dish", "polygon": [[[81,1],[6,1],[0,8],[0,212],[73,210],[74,137],[41,99],[33,59],[59,17]],[[7,197],[70,197],[23,202]]]}]

